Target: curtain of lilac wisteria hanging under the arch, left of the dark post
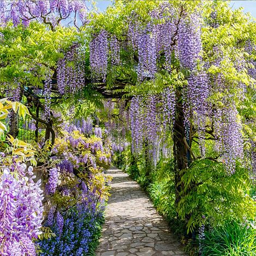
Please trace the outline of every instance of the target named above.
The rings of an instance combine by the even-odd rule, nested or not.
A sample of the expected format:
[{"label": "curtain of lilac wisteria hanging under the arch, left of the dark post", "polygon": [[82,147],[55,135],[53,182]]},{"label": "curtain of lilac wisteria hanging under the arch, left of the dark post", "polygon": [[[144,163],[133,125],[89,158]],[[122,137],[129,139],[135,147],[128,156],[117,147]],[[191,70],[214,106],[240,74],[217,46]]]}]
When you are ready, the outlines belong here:
[{"label": "curtain of lilac wisteria hanging under the arch, left of the dark post", "polygon": [[130,106],[132,151],[138,154],[143,146],[147,147],[154,166],[160,155],[166,155],[169,151],[164,141],[169,127],[173,124],[175,97],[172,98],[169,88],[166,93],[157,96],[135,96]]}]

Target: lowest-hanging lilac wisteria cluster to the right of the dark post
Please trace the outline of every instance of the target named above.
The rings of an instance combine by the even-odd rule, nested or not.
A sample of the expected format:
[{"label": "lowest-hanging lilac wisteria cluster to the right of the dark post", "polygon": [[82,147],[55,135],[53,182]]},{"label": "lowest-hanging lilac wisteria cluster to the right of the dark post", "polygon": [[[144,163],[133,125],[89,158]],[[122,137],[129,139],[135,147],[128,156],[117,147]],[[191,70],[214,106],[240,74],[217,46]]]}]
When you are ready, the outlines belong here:
[{"label": "lowest-hanging lilac wisteria cluster to the right of the dark post", "polygon": [[[215,51],[221,57],[215,60],[214,65],[221,67],[223,54],[218,48]],[[216,150],[221,154],[227,172],[232,174],[235,172],[236,160],[243,158],[242,126],[239,121],[239,113],[236,109],[235,101],[229,94],[228,82],[225,81],[222,74],[217,74],[214,77],[214,90],[223,95],[221,98],[223,106],[216,106],[212,109]]]}]

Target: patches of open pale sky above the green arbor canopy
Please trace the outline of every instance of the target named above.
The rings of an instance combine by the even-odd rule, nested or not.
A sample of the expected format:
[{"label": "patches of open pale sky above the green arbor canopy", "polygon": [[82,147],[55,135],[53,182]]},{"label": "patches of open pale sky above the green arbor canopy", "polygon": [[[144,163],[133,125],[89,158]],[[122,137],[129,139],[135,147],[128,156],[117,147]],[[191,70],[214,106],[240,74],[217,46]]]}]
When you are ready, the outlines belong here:
[{"label": "patches of open pale sky above the green arbor canopy", "polygon": [[[97,7],[104,11],[107,6],[111,4],[111,0],[96,0]],[[237,9],[239,7],[243,7],[245,13],[251,13],[253,17],[256,18],[256,1],[230,1],[230,7],[233,9]]]}]

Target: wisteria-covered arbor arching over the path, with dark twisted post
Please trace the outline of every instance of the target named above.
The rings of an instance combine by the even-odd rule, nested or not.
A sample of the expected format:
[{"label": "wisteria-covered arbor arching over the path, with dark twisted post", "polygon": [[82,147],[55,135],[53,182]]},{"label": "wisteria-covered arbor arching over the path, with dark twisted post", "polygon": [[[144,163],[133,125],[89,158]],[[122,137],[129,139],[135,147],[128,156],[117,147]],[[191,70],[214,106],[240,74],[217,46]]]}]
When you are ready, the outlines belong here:
[{"label": "wisteria-covered arbor arching over the path, with dark twisted post", "polygon": [[[26,23],[36,19],[28,8],[27,27],[13,20],[16,27],[1,28],[0,81],[41,109],[31,115],[52,144],[53,109],[63,102],[81,115],[87,101],[97,107],[103,98],[129,100],[132,153],[145,155],[148,175],[166,152],[173,156],[180,209],[184,191],[200,185],[182,179],[194,161],[223,163],[231,175],[254,150],[256,27],[249,16],[217,1],[116,1],[77,30],[58,26],[77,6],[44,8],[43,24]],[[56,11],[56,24],[47,8]],[[113,108],[111,118],[120,114]]]}]

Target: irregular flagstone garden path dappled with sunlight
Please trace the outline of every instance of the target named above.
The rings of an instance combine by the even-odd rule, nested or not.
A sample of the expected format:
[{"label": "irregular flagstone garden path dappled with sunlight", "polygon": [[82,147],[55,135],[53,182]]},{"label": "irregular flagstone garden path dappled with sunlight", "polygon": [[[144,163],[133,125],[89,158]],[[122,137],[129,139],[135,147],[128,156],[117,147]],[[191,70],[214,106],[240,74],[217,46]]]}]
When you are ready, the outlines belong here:
[{"label": "irregular flagstone garden path dappled with sunlight", "polygon": [[112,196],[106,209],[97,256],[185,256],[147,194],[121,170],[112,167]]}]

